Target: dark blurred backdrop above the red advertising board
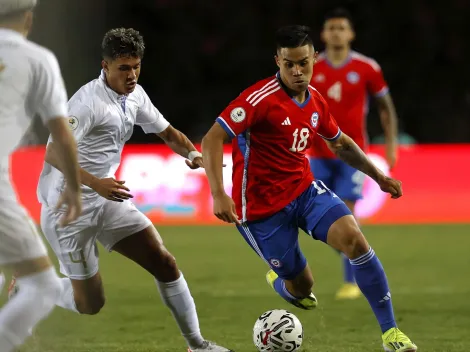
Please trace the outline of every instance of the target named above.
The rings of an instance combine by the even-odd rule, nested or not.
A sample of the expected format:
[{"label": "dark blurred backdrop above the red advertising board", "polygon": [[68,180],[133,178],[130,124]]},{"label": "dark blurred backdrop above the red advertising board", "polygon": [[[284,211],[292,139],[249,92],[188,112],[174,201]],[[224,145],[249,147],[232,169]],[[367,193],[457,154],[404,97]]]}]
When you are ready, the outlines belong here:
[{"label": "dark blurred backdrop above the red advertising board", "polygon": [[[353,48],[383,68],[401,141],[470,142],[467,0],[43,0],[32,39],[57,53],[71,96],[99,75],[107,30],[139,30],[147,46],[140,83],[171,123],[198,142],[243,89],[276,72],[278,27],[310,26],[321,51],[323,16],[337,5],[354,17]],[[373,106],[368,130],[372,142],[382,140]],[[39,131],[29,143],[46,141]],[[155,141],[137,128],[130,142]]]}]

